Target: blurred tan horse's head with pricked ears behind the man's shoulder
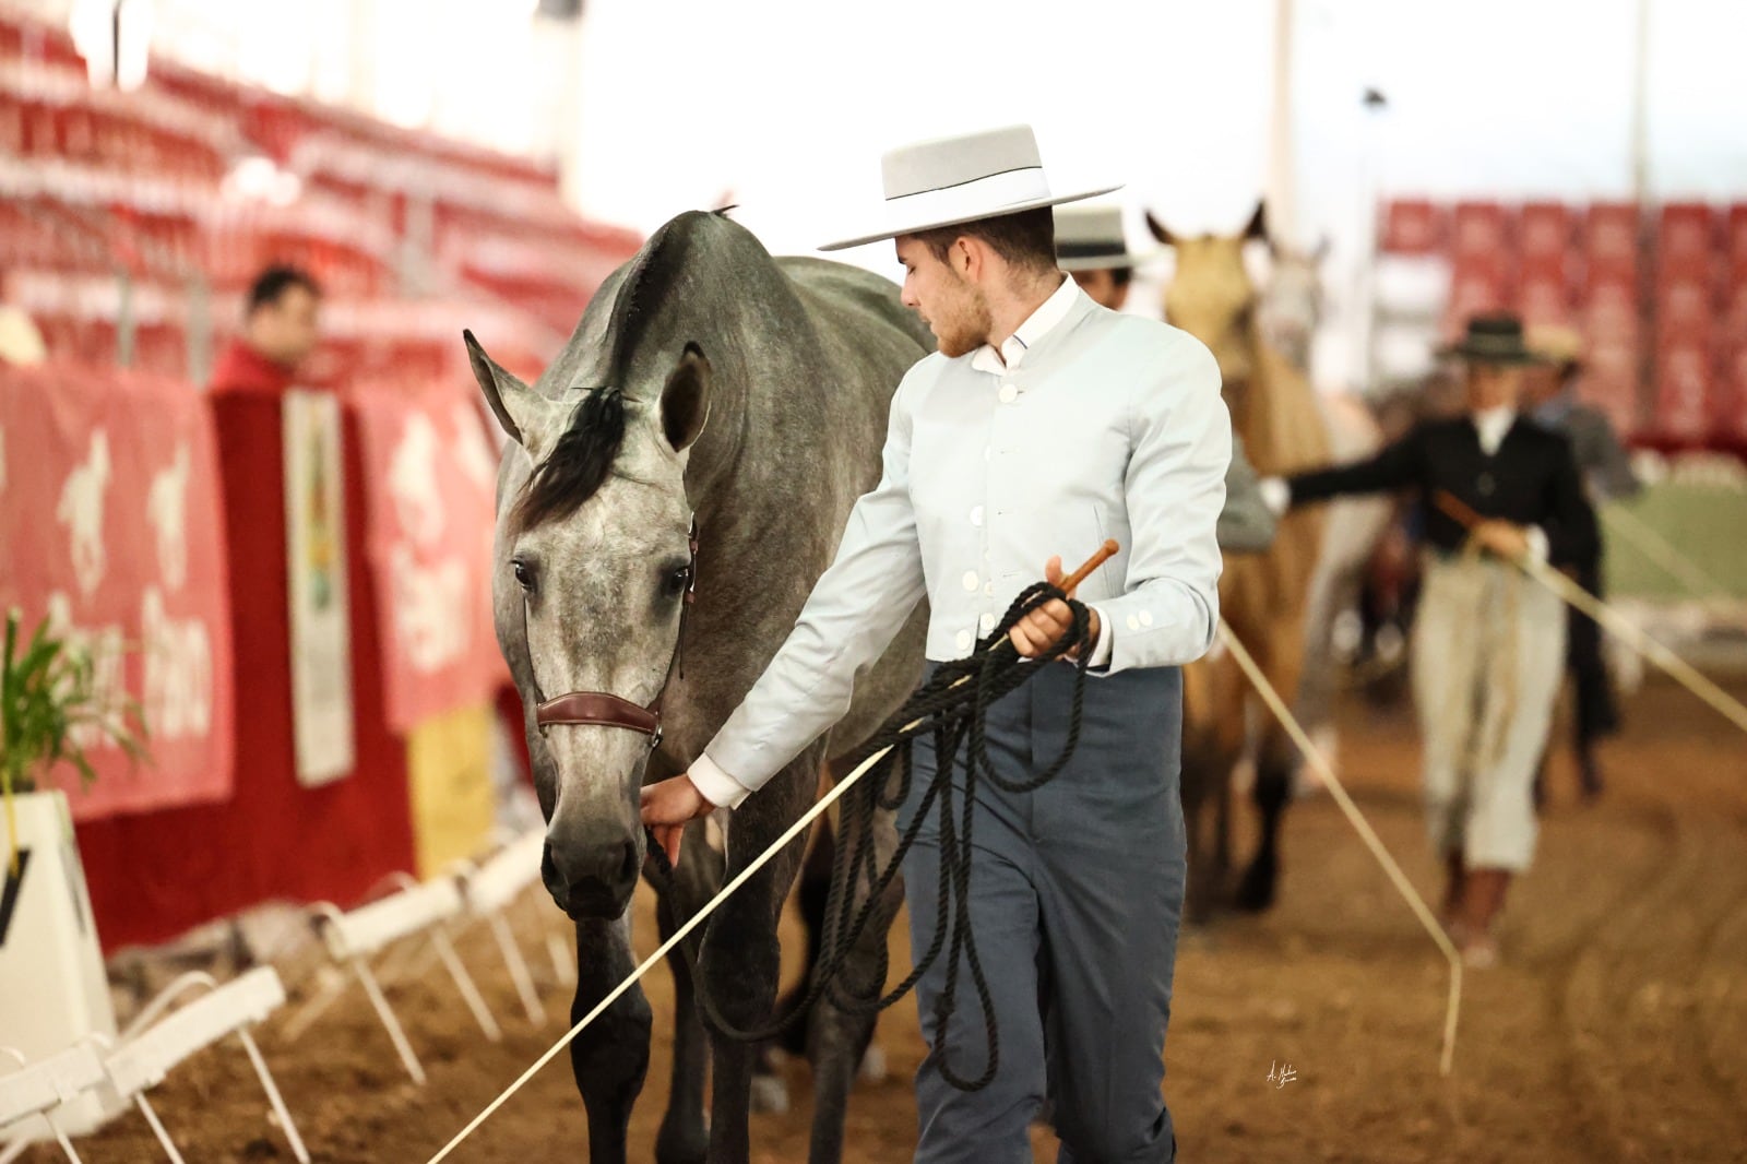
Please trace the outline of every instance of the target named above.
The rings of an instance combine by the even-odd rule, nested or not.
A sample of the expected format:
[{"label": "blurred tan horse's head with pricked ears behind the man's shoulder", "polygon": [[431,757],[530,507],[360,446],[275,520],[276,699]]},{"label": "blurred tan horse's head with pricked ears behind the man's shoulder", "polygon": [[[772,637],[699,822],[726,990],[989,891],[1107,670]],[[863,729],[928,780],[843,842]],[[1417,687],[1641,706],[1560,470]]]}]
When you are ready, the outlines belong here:
[{"label": "blurred tan horse's head with pricked ears behind the man's shoulder", "polygon": [[1228,388],[1247,383],[1256,362],[1256,285],[1244,269],[1244,245],[1268,236],[1263,208],[1242,234],[1177,238],[1153,215],[1146,225],[1177,253],[1165,320],[1207,344]]}]

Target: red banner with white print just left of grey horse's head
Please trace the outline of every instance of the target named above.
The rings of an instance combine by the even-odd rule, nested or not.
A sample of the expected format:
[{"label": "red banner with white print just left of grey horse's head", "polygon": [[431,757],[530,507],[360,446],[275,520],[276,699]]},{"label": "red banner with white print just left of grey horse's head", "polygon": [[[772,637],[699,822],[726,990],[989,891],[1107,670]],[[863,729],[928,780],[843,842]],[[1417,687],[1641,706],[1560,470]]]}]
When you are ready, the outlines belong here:
[{"label": "red banner with white print just left of grey horse's head", "polygon": [[491,622],[498,456],[454,381],[363,386],[351,405],[384,701],[404,732],[508,680]]}]

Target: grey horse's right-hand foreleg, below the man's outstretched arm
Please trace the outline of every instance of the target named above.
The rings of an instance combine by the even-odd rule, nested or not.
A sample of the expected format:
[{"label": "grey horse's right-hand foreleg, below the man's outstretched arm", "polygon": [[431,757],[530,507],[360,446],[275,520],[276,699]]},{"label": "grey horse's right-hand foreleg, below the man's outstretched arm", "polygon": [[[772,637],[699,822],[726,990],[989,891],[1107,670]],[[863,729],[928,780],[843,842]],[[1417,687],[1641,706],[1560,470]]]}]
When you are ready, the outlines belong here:
[{"label": "grey horse's right-hand foreleg, below the man's outstretched arm", "polygon": [[[730,881],[800,816],[816,788],[818,753],[809,752],[734,813],[728,825]],[[727,898],[709,921],[697,973],[722,1019],[734,1028],[749,1029],[770,1021],[781,970],[776,925],[800,867],[802,844],[804,839],[793,841]],[[746,1164],[756,1047],[716,1031],[711,1035],[709,1159],[711,1164]]]}]

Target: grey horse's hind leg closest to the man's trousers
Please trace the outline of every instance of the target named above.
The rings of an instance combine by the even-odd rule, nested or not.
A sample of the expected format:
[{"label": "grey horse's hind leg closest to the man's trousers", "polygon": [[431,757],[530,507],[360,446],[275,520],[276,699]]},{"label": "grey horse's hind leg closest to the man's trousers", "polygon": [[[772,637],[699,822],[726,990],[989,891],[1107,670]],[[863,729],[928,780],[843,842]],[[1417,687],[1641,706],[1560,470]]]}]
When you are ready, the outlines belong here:
[{"label": "grey horse's hind leg closest to the man's trousers", "polygon": [[[853,844],[846,837],[842,844]],[[874,867],[886,869],[898,848],[898,828],[891,813],[874,820]],[[851,853],[851,860],[858,855]],[[868,900],[868,886],[858,883],[854,912]],[[867,998],[886,987],[886,937],[903,904],[903,877],[894,877],[874,907],[867,928],[847,951],[839,982],[849,998]],[[828,919],[833,921],[833,919]],[[832,935],[842,940],[840,935]],[[874,1012],[854,1014],[837,1007],[828,996],[814,1008],[807,1029],[807,1057],[812,1061],[812,1164],[837,1164],[844,1155],[844,1119],[849,1092],[861,1066],[861,1056],[874,1038]]]}]

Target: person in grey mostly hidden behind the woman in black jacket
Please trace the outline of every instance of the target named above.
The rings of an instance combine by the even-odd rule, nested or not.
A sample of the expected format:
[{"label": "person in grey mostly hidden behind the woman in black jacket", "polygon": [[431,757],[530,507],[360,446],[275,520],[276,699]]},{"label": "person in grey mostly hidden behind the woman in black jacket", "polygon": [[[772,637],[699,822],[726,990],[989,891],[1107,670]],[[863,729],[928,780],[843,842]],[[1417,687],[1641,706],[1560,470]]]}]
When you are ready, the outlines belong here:
[{"label": "person in grey mostly hidden behind the woman in black jacket", "polygon": [[[1583,337],[1569,327],[1536,327],[1529,330],[1529,348],[1541,357],[1541,362],[1532,365],[1525,376],[1523,404],[1536,421],[1553,432],[1565,433],[1571,440],[1571,451],[1578,458],[1578,470],[1583,474],[1590,502],[1600,507],[1605,502],[1635,496],[1644,486],[1632,472],[1632,458],[1619,442],[1612,423],[1599,407],[1578,398],[1578,379],[1583,374]],[[1578,585],[1595,598],[1602,598],[1602,554],[1604,547],[1597,538],[1595,552],[1576,563],[1574,572]],[[1602,661],[1602,629],[1595,619],[1581,610],[1572,608],[1567,615],[1571,626],[1567,629],[1565,666],[1571,671],[1578,704],[1572,720],[1578,778],[1583,783],[1583,795],[1595,799],[1602,793],[1602,769],[1595,759],[1595,745],[1619,731],[1619,708],[1607,678],[1607,664]],[[1537,778],[1537,802],[1543,795],[1541,783]]]}]

